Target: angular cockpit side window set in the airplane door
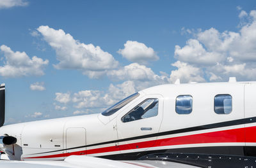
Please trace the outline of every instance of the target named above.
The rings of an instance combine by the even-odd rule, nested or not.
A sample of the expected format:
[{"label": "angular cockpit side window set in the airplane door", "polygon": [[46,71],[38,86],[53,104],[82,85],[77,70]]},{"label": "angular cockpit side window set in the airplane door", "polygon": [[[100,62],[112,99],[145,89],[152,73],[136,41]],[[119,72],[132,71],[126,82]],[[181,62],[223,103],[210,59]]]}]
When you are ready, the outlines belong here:
[{"label": "angular cockpit side window set in the airplane door", "polygon": [[129,113],[122,117],[122,122],[132,122],[144,118],[157,116],[158,114],[158,99],[146,99],[138,106],[133,108]]}]

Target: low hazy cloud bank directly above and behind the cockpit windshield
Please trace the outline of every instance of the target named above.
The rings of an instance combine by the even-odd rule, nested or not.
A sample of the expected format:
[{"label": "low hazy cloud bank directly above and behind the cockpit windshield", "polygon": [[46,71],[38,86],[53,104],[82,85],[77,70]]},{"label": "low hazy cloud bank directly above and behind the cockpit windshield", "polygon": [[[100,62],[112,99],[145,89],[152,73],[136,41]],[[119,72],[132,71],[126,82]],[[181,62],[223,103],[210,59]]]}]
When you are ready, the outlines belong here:
[{"label": "low hazy cloud bank directly above and behind the cockpit windshield", "polygon": [[[74,115],[93,113],[95,112],[94,109],[99,113],[121,99],[134,94],[134,92],[136,92],[136,89],[134,88],[133,81],[125,81],[118,85],[109,85],[109,88],[106,91],[81,90],[74,94],[56,93],[55,100],[59,104],[65,105],[67,102],[70,102],[73,108],[77,109],[74,111]],[[56,110],[64,111],[67,109],[67,106],[63,107],[56,103],[54,103],[54,106]]]}]

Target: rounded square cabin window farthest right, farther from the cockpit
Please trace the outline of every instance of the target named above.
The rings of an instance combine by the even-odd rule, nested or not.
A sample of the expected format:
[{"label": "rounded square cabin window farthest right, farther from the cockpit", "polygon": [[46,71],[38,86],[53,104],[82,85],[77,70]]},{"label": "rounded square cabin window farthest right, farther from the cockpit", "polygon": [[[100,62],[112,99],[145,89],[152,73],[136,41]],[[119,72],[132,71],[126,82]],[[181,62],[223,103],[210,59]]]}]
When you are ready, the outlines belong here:
[{"label": "rounded square cabin window farthest right, farther from the cockpit", "polygon": [[232,96],[220,94],[214,97],[214,111],[217,114],[229,114],[232,111]]}]

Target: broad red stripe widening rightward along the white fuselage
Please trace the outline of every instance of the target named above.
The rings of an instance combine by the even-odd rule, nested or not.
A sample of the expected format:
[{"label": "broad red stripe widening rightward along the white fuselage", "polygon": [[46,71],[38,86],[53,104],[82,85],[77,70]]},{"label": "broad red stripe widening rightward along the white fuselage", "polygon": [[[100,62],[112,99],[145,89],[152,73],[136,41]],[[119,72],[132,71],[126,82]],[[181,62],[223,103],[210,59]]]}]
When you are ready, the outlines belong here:
[{"label": "broad red stripe widening rightward along the white fuselage", "polygon": [[96,148],[92,150],[74,151],[71,153],[61,153],[57,155],[48,155],[41,157],[28,157],[28,158],[56,158],[67,157],[70,155],[81,155],[80,153],[95,154],[105,153],[119,150],[133,150],[139,148],[150,148],[152,146],[170,146],[179,144],[201,144],[201,143],[244,143],[244,130],[246,130],[246,142],[256,143],[256,127],[248,127],[246,129],[232,129],[232,130],[220,130],[216,132],[207,132],[202,134],[194,134],[190,136],[170,137],[166,139],[157,139],[152,141],[145,141],[140,143],[122,144],[116,146],[109,146],[104,148]]}]

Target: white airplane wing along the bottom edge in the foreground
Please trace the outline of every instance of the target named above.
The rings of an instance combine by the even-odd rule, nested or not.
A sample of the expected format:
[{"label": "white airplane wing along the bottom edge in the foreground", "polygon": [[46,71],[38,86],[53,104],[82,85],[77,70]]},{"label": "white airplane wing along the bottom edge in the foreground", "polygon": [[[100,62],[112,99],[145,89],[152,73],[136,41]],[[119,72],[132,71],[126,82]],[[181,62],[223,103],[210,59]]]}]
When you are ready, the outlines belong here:
[{"label": "white airplane wing along the bottom edge in the foreground", "polygon": [[116,161],[105,158],[76,156],[72,155],[61,161],[14,161],[0,160],[2,168],[61,168],[61,167],[76,167],[76,168],[196,168],[193,165],[179,164],[175,162],[166,162],[161,160],[134,160],[134,161]]}]

